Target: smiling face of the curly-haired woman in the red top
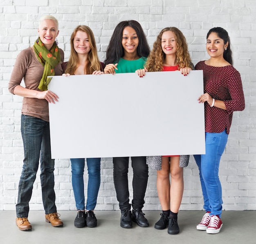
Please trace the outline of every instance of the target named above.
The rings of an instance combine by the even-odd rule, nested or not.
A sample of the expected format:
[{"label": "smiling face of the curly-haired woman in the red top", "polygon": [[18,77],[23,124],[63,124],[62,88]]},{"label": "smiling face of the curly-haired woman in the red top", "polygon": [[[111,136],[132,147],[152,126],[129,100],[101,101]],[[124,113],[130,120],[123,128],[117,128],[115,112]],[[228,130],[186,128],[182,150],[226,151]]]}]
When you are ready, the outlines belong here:
[{"label": "smiling face of the curly-haired woman in the red top", "polygon": [[165,31],[161,38],[162,50],[166,55],[176,54],[177,43],[173,31]]}]

